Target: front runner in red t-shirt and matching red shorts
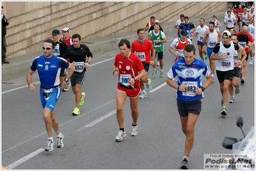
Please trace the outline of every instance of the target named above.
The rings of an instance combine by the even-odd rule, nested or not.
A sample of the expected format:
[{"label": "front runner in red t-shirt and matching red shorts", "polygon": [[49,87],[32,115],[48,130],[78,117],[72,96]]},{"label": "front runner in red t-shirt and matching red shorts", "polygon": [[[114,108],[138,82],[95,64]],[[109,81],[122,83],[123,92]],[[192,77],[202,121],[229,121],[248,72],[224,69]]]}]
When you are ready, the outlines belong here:
[{"label": "front runner in red t-shirt and matching red shorts", "polygon": [[118,77],[117,93],[116,93],[116,117],[119,124],[119,132],[115,136],[117,142],[121,142],[126,136],[124,130],[124,102],[130,97],[130,108],[132,111],[132,136],[138,135],[137,119],[139,117],[138,102],[141,92],[139,85],[140,79],[146,75],[140,58],[130,52],[131,45],[126,39],[120,40],[120,53],[115,56],[113,65],[113,75]]}]

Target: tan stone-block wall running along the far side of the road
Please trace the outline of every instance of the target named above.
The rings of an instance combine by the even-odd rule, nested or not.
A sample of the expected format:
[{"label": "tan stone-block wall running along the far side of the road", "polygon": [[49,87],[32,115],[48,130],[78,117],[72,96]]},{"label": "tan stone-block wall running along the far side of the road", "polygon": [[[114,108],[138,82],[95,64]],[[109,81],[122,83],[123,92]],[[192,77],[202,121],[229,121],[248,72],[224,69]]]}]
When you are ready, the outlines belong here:
[{"label": "tan stone-block wall running along the far side of the road", "polygon": [[1,2],[9,19],[7,56],[14,58],[42,50],[53,29],[68,27],[86,41],[144,28],[154,15],[162,24],[174,22],[183,13],[197,17],[226,8],[227,2],[108,2],[108,1],[35,1]]}]

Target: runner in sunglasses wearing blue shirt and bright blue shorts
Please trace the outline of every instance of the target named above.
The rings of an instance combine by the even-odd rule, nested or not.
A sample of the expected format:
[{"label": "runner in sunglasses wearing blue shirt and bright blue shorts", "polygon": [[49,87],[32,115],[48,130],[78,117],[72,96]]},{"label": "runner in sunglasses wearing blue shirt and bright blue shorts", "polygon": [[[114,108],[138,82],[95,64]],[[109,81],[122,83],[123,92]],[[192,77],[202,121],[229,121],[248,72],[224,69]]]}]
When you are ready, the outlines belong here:
[{"label": "runner in sunglasses wearing blue shirt and bright blue shorts", "polygon": [[[30,91],[35,91],[35,83],[32,82],[32,75],[35,70],[38,71],[40,78],[40,99],[42,107],[44,108],[43,118],[46,123],[48,136],[45,151],[52,151],[53,145],[55,144],[52,129],[54,129],[57,134],[56,147],[64,147],[64,135],[60,133],[58,128],[58,121],[55,117],[55,105],[62,94],[61,89],[67,86],[67,81],[65,80],[60,83],[59,70],[61,67],[69,69],[67,78],[70,78],[74,72],[74,66],[63,58],[59,58],[53,54],[55,51],[55,42],[53,42],[53,40],[48,39],[44,41],[42,49],[44,49],[44,55],[38,56],[33,60],[26,79]],[[60,86],[60,84],[62,84],[62,86]]]}]

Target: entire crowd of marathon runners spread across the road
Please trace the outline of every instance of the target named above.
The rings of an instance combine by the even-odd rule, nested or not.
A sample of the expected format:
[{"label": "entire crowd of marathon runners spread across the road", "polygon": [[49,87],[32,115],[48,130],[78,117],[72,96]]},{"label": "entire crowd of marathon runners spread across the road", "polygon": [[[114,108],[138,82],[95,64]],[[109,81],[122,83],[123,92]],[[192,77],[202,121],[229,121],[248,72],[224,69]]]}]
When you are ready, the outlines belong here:
[{"label": "entire crowd of marathon runners spread across the road", "polygon": [[[176,89],[176,100],[182,122],[182,131],[186,136],[181,168],[189,168],[188,157],[194,141],[194,126],[201,111],[203,92],[213,82],[215,70],[222,95],[222,116],[226,116],[228,91],[230,91],[231,95],[229,102],[234,102],[232,83],[235,86],[235,94],[239,94],[239,67],[243,70],[241,83],[244,84],[249,51],[254,47],[254,15],[253,20],[250,20],[252,24],[248,25],[248,27],[241,26],[241,31],[237,31],[235,35],[232,35],[232,27],[228,26],[231,13],[230,11],[227,12],[228,19],[225,19],[224,22],[226,24],[226,31],[223,31],[223,33],[219,31],[221,24],[217,20],[218,17],[216,15],[209,22],[209,26],[205,25],[205,19],[200,19],[200,26],[196,27],[189,22],[189,17],[183,14],[180,15],[180,19],[175,24],[175,28],[178,29],[178,37],[169,46],[169,52],[175,56],[175,63],[167,74],[166,83]],[[237,19],[232,19],[231,22],[235,24]],[[126,136],[123,124],[123,109],[127,97],[130,98],[132,114],[131,134],[132,136],[138,135],[137,118],[139,117],[139,110],[137,105],[139,99],[147,97],[144,83],[148,92],[152,88],[151,79],[148,78],[149,67],[150,65],[153,67],[152,76],[156,76],[158,73],[156,59],[159,61],[160,77],[164,77],[163,56],[164,43],[167,42],[167,38],[161,30],[160,20],[155,20],[154,16],[150,17],[150,22],[146,24],[145,29],[149,30],[148,39],[145,38],[144,29],[138,29],[138,38],[132,42],[132,45],[126,39],[122,39],[119,42],[120,53],[115,56],[112,67],[113,76],[118,77],[116,117],[119,131],[115,137],[115,140],[118,142],[122,141],[123,137]],[[253,37],[248,33],[248,29],[250,33],[253,33]],[[69,33],[69,31],[69,28],[62,29],[63,35],[66,32]],[[86,68],[90,66],[90,61],[92,60],[92,53],[90,53],[86,45],[81,44],[80,35],[74,34],[71,37],[67,34],[69,35],[67,38],[64,37],[59,40],[58,37],[56,38],[58,34],[60,34],[58,29],[53,30],[54,41],[46,40],[44,42],[42,47],[44,55],[35,58],[27,74],[28,86],[31,91],[35,90],[35,83],[32,83],[31,76],[36,69],[38,69],[40,76],[40,95],[44,108],[43,117],[48,134],[46,151],[53,150],[52,127],[57,134],[56,147],[64,147],[64,135],[58,130],[58,122],[56,121],[54,111],[56,101],[60,97],[61,87],[62,89],[67,88],[67,83],[69,83],[69,79],[71,80],[76,101],[73,115],[79,115],[79,106],[83,105],[83,98],[85,97],[85,93],[81,93],[81,85],[85,78]],[[197,45],[201,60],[195,58],[196,49],[192,45],[192,40],[195,38],[198,40]],[[60,53],[60,45],[63,42],[67,45],[67,48],[64,53]],[[251,43],[249,44],[249,42]],[[56,57],[58,55],[62,58]],[[88,60],[86,60],[86,56]],[[210,69],[205,63],[205,60],[208,58]],[[251,56],[252,58],[254,58],[254,54]],[[215,63],[216,60],[217,65]],[[63,68],[61,72],[58,67]],[[66,76],[64,68],[69,69],[69,72],[66,72]],[[51,76],[55,77],[49,79],[48,70],[51,70]],[[207,78],[205,83],[201,82],[201,75]],[[58,76],[65,77],[60,81]],[[175,77],[177,81],[173,81]]]}]

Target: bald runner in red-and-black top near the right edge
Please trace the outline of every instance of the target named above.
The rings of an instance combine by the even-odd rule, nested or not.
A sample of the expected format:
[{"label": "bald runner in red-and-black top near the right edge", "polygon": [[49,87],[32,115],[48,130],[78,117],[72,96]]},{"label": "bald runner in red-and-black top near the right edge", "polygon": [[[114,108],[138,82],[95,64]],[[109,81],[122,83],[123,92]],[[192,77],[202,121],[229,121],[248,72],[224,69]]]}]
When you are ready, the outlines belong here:
[{"label": "bald runner in red-and-black top near the right edge", "polygon": [[[235,33],[235,35],[237,35],[237,37],[238,37],[238,44],[240,44],[244,47],[244,51],[247,54],[246,59],[243,61],[243,67],[242,67],[243,77],[241,78],[241,85],[244,85],[244,77],[247,72],[246,64],[247,64],[248,56],[249,56],[249,48],[253,47],[254,39],[253,39],[252,35],[250,35],[250,33],[248,33],[247,26],[243,26],[241,31]],[[249,42],[252,42],[252,44],[249,45]]]}]

